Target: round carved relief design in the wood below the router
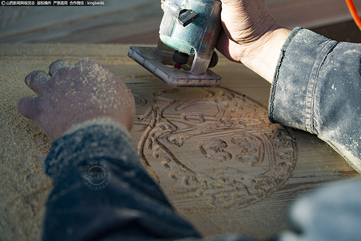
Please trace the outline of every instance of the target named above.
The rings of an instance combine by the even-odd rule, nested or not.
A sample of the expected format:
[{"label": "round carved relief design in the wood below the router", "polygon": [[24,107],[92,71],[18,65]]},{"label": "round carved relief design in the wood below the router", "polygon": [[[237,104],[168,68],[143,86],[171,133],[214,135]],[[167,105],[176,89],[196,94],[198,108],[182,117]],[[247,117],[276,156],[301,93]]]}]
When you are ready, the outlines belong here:
[{"label": "round carved relief design in the wood below the router", "polygon": [[154,92],[151,99],[138,117],[148,123],[138,154],[170,202],[182,203],[175,205],[179,212],[256,203],[296,164],[292,132],[270,123],[267,109],[245,95],[187,88]]}]

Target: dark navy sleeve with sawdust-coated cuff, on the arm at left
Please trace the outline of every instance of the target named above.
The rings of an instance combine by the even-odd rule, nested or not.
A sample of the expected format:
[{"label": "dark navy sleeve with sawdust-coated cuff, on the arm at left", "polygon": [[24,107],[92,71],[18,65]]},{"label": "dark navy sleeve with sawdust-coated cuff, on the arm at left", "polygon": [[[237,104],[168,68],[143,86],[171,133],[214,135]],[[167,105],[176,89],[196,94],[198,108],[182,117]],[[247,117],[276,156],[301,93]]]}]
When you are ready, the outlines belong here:
[{"label": "dark navy sleeve with sawdust-coated cuff, on the arm at left", "polygon": [[[42,240],[199,238],[149,178],[125,128],[114,122],[80,125],[53,143],[44,163],[54,187]],[[108,175],[103,183],[103,169],[95,166]]]}]

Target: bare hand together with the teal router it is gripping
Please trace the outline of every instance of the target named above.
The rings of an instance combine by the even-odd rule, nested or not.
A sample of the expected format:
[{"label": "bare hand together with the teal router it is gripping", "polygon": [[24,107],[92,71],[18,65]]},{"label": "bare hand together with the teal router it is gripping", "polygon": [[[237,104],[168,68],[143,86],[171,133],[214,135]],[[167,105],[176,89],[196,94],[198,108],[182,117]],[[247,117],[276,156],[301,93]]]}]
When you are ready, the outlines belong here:
[{"label": "bare hand together with the teal router it is gripping", "polygon": [[132,46],[128,53],[162,81],[174,87],[218,86],[221,77],[208,69],[217,62],[218,40],[217,49],[227,58],[271,82],[291,31],[274,20],[264,0],[162,0],[162,8],[158,47]]}]

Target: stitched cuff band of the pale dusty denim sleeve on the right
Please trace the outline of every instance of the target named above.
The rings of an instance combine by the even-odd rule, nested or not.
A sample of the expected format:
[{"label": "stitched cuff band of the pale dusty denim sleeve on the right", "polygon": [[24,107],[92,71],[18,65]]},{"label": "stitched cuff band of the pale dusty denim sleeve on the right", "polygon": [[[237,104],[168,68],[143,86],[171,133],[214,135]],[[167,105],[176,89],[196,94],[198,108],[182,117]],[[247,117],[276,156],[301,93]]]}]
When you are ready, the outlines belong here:
[{"label": "stitched cuff band of the pale dusty denim sleeve on the right", "polygon": [[313,126],[317,75],[337,43],[301,27],[292,30],[281,49],[271,85],[271,122],[317,134]]}]

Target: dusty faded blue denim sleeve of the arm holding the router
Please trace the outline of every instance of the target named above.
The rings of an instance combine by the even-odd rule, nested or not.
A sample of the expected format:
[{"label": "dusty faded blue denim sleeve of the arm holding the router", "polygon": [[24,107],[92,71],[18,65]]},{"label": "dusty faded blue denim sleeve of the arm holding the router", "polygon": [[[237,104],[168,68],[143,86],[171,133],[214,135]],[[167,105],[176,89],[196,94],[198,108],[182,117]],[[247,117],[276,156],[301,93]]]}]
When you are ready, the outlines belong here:
[{"label": "dusty faded blue denim sleeve of the arm holding the router", "polygon": [[271,86],[269,120],[317,134],[361,173],[361,44],[295,28]]}]

